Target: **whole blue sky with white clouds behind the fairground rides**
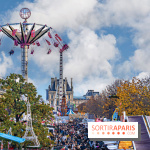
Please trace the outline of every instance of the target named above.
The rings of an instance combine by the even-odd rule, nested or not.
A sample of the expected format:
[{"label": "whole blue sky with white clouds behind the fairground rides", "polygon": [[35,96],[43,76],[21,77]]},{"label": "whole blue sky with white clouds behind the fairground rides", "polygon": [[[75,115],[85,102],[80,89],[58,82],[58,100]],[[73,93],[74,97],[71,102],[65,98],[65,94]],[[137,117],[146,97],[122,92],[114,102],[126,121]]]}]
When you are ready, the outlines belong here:
[{"label": "whole blue sky with white clouds behind the fairground rides", "polygon": [[[67,42],[64,77],[73,78],[74,95],[101,92],[116,79],[144,78],[150,73],[149,0],[7,0],[0,5],[0,24],[19,23],[21,8],[30,23],[47,24]],[[0,36],[1,37],[1,36]],[[42,40],[42,39],[41,39]],[[42,43],[42,41],[40,41]],[[21,74],[21,51],[9,56],[13,41],[0,46],[0,76]],[[29,81],[45,99],[51,77],[59,77],[59,50],[46,45],[29,49]]]}]

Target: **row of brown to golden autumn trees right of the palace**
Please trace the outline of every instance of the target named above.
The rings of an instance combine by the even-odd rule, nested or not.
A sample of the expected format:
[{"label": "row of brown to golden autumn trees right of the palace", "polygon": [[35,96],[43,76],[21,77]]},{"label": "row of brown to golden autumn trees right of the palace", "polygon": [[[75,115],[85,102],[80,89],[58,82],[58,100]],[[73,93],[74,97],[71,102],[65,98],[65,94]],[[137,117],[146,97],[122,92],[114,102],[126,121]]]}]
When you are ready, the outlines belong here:
[{"label": "row of brown to golden autumn trees right of the palace", "polygon": [[[112,95],[114,97],[110,98]],[[78,110],[111,119],[117,107],[120,110],[119,115],[123,111],[129,116],[150,115],[150,78],[116,80],[107,86],[98,98],[92,97],[87,103],[79,105]]]}]

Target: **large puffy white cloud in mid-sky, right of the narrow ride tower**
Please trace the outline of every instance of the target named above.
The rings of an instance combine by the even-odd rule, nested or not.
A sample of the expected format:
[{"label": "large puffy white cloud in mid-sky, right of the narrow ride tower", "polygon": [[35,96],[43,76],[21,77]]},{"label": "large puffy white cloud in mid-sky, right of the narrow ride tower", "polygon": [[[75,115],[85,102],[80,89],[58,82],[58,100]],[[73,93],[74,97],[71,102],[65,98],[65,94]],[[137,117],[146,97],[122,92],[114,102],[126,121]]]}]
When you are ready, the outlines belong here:
[{"label": "large puffy white cloud in mid-sky, right of the narrow ride tower", "polygon": [[111,61],[119,56],[116,39],[113,35],[100,37],[90,29],[83,29],[80,34],[69,32],[70,49],[64,53],[64,76],[73,78],[75,92],[88,89],[101,91],[114,80]]}]

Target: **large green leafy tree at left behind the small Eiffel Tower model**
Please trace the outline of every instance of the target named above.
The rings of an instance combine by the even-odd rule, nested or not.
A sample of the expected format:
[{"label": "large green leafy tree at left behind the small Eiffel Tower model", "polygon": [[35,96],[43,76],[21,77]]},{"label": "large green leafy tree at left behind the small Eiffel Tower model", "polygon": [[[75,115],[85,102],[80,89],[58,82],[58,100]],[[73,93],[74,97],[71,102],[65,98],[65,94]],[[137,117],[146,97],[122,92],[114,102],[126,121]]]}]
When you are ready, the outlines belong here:
[{"label": "large green leafy tree at left behind the small Eiffel Tower model", "polygon": [[[18,82],[17,82],[18,81]],[[41,96],[32,83],[25,82],[19,74],[10,74],[6,79],[0,79],[1,89],[5,93],[0,97],[0,132],[7,133],[12,128],[15,136],[22,137],[25,133],[26,124],[22,120],[27,112],[26,101],[31,104],[32,124],[39,142],[48,146],[52,141],[47,138],[48,130],[41,122],[50,123],[53,118],[53,108],[44,102],[39,102]]]}]

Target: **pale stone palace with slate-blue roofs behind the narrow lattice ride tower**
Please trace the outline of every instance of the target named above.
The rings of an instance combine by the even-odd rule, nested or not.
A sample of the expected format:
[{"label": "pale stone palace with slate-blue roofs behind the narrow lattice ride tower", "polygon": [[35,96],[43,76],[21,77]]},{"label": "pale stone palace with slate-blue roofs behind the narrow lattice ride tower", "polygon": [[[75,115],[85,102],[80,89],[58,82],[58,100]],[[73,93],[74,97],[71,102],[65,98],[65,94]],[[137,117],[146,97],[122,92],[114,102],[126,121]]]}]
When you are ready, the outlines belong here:
[{"label": "pale stone palace with slate-blue roofs behind the narrow lattice ride tower", "polygon": [[[67,78],[63,80],[64,83],[64,93],[66,97],[66,104],[68,108],[71,108],[74,110],[76,107],[78,107],[80,104],[87,102],[92,96],[94,98],[99,96],[99,92],[94,92],[94,90],[88,90],[88,92],[83,96],[73,96],[73,83],[71,78],[71,84],[69,85]],[[51,107],[54,107],[56,105],[57,111],[60,106],[59,97],[56,98],[57,92],[59,92],[59,79],[51,78],[51,84],[48,86],[48,89],[46,89],[46,101],[50,104]],[[58,89],[57,89],[58,88]]]}]

